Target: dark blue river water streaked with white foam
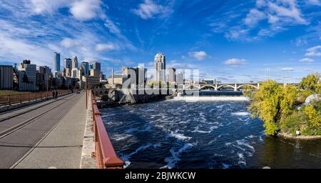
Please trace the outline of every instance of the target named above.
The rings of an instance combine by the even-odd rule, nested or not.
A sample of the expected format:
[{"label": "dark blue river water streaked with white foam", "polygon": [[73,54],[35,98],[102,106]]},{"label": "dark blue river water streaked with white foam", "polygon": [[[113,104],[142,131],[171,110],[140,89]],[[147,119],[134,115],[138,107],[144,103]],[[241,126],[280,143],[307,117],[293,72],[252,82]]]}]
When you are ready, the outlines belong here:
[{"label": "dark blue river water streaked with white foam", "polygon": [[126,168],[321,168],[320,140],[274,139],[242,97],[101,109]]}]

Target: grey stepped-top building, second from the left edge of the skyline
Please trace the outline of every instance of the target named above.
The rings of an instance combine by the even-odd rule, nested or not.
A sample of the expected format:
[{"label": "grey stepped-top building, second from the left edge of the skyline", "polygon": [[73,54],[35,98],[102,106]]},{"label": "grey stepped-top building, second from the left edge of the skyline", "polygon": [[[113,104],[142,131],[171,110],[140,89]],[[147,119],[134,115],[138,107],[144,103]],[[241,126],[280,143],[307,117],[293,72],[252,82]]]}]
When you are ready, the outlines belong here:
[{"label": "grey stepped-top building, second from the left edge of the skyline", "polygon": [[30,60],[24,60],[19,66],[19,90],[36,91],[36,64],[31,64]]}]

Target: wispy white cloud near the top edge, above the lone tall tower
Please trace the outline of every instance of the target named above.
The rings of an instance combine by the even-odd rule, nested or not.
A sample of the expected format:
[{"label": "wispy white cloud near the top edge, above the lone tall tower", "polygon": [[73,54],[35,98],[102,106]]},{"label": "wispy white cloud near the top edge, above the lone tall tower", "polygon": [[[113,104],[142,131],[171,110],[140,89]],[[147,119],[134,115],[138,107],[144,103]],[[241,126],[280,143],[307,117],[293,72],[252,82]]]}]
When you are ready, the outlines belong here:
[{"label": "wispy white cloud near the top edge, above the lone tall tower", "polygon": [[153,19],[156,15],[161,17],[168,16],[172,10],[156,4],[152,0],[145,0],[142,4],[139,4],[138,9],[133,9],[132,11],[134,14],[141,16],[142,19]]}]

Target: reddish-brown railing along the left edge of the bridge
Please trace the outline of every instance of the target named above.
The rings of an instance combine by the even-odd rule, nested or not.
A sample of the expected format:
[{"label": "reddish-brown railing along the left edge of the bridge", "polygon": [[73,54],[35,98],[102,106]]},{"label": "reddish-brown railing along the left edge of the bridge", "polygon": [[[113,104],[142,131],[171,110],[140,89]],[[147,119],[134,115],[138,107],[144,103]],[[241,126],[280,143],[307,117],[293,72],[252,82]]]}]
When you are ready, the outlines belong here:
[{"label": "reddish-brown railing along the left edge of the bridge", "polygon": [[[78,90],[75,90],[75,92]],[[71,94],[71,90],[57,90],[58,96],[63,94]],[[52,91],[34,92],[26,94],[6,94],[0,95],[0,107],[10,106],[12,104],[21,104],[23,102],[31,102],[37,99],[51,99]]]}]

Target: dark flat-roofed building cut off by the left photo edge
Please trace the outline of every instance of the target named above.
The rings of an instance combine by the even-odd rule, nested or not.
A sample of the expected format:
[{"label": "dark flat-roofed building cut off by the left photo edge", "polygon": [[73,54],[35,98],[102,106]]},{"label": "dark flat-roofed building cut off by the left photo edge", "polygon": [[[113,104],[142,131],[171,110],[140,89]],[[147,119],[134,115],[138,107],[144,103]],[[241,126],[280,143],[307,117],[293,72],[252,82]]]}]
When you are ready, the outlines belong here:
[{"label": "dark flat-roofed building cut off by the left photo edge", "polygon": [[0,66],[0,89],[14,88],[14,74],[12,66]]}]

